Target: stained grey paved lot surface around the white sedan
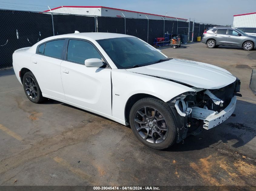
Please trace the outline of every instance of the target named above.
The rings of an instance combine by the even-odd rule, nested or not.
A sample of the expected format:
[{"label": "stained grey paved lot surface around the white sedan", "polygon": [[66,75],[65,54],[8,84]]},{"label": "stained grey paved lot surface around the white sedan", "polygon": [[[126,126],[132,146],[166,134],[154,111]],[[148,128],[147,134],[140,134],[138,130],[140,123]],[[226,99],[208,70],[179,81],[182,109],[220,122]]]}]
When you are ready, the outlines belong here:
[{"label": "stained grey paved lot surface around the white sedan", "polygon": [[236,117],[165,151],[101,116],[54,100],[34,104],[13,70],[0,71],[0,185],[256,186],[256,96],[249,89],[256,50],[184,46],[161,49],[229,70],[241,79],[243,97]]}]

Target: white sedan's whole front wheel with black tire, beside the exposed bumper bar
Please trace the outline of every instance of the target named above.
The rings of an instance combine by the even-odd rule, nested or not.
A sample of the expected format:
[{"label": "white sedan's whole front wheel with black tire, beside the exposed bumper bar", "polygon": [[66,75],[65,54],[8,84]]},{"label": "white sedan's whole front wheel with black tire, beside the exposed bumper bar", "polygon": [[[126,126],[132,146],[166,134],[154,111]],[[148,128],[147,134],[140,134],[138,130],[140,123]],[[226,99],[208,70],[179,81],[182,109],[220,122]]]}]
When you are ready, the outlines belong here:
[{"label": "white sedan's whole front wheel with black tire, beside the exposed bumper bar", "polygon": [[[143,112],[147,114],[143,116]],[[150,148],[165,149],[176,142],[174,114],[163,101],[154,98],[138,100],[131,108],[129,119],[135,136]]]}]

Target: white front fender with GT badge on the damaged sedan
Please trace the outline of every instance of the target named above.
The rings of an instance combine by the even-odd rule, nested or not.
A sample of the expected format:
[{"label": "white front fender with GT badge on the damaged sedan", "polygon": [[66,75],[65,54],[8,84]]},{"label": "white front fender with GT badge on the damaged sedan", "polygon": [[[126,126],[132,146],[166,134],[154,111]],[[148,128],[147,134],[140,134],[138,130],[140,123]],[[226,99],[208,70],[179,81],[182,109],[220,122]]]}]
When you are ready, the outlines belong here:
[{"label": "white front fender with GT badge on the damaged sedan", "polygon": [[149,94],[167,102],[188,91],[195,91],[185,85],[148,75],[112,69],[112,115],[125,120],[125,105],[135,94]]}]

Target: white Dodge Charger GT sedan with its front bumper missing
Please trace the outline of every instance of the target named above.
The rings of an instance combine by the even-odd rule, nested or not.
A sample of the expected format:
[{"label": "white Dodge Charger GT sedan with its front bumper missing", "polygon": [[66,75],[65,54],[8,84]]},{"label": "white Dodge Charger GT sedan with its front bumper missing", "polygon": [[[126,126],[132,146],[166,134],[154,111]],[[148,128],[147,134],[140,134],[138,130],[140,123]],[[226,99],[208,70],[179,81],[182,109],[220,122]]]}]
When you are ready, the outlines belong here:
[{"label": "white Dodge Charger GT sedan with its front bumper missing", "polygon": [[130,125],[145,145],[164,149],[225,121],[240,80],[201,62],[168,58],[137,37],[73,33],[13,53],[28,99],[44,98]]}]

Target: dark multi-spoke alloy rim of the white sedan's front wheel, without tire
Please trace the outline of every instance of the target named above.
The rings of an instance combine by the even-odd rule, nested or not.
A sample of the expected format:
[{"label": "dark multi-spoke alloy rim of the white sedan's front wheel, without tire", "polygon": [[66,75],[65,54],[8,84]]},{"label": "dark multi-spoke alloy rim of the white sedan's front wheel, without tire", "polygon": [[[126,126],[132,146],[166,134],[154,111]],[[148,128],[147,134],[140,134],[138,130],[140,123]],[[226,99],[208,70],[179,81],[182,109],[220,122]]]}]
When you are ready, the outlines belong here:
[{"label": "dark multi-spoke alloy rim of the white sedan's front wheel, without tire", "polygon": [[134,125],[138,134],[150,143],[161,143],[168,135],[164,116],[153,107],[138,109],[134,116]]}]

